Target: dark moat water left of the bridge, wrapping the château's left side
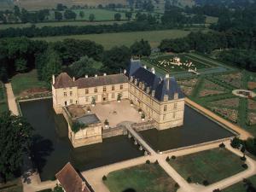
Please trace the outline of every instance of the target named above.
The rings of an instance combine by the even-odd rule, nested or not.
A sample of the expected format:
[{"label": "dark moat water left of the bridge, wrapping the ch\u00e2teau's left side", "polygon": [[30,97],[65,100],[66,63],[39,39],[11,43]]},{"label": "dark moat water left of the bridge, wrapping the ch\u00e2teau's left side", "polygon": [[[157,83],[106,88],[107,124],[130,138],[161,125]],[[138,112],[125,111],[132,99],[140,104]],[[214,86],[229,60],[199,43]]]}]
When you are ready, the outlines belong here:
[{"label": "dark moat water left of the bridge, wrapping the ch\u00e2teau's left side", "polygon": [[54,178],[68,161],[79,171],[85,171],[143,155],[125,136],[73,148],[67,138],[66,120],[55,114],[50,100],[22,102],[20,108],[35,129],[32,154],[43,181]]}]

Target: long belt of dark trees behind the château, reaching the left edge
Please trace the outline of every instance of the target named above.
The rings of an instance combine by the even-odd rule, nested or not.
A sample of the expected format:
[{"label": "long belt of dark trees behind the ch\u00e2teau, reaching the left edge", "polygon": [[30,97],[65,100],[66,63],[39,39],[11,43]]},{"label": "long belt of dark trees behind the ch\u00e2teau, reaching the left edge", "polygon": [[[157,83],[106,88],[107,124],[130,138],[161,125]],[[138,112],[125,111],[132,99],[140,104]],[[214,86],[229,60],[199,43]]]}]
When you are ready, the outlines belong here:
[{"label": "long belt of dark trees behind the ch\u00e2teau, reaching the left edge", "polygon": [[0,80],[33,68],[38,79],[49,84],[52,74],[67,71],[76,78],[85,74],[119,73],[131,55],[150,55],[151,47],[143,39],[130,48],[125,46],[104,50],[101,44],[90,40],[65,39],[55,43],[29,38],[3,38],[0,40]]}]

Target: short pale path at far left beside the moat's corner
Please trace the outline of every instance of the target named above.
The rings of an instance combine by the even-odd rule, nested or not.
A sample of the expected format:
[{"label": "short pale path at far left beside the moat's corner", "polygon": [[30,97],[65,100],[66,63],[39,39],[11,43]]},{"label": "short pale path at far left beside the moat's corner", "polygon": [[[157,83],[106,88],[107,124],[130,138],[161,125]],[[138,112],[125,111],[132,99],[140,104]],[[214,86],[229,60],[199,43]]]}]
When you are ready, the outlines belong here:
[{"label": "short pale path at far left beside the moat's corner", "polygon": [[10,83],[5,84],[5,88],[6,88],[9,110],[11,111],[11,113],[13,113],[15,115],[19,115],[19,110],[17,107],[17,103],[15,101],[15,94],[14,94],[14,91],[12,88],[12,84],[10,84]]}]

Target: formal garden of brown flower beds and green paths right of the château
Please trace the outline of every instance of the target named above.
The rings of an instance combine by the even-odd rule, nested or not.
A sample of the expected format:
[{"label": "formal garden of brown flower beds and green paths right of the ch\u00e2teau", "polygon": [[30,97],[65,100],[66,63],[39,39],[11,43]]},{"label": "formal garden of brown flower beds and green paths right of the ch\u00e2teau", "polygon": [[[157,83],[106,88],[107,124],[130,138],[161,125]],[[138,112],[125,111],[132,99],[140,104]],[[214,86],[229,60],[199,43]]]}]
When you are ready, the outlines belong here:
[{"label": "formal garden of brown flower beds and green paths right of the ch\u00e2teau", "polygon": [[177,78],[177,83],[189,99],[256,135],[256,98],[232,93],[237,89],[256,93],[253,73],[233,69],[224,73]]}]

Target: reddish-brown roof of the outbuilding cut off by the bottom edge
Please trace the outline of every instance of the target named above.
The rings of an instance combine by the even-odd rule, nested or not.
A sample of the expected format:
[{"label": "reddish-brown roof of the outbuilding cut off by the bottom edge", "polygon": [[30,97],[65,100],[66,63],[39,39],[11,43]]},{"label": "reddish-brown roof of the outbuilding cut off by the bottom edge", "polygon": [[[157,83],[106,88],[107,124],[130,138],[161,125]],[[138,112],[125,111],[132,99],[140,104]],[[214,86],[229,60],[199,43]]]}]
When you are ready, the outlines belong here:
[{"label": "reddish-brown roof of the outbuilding cut off by the bottom edge", "polygon": [[67,163],[55,177],[61,183],[66,192],[90,192],[79,173],[75,171],[71,163]]}]

